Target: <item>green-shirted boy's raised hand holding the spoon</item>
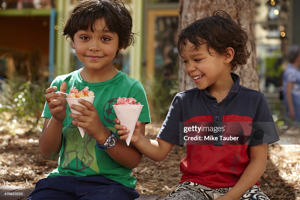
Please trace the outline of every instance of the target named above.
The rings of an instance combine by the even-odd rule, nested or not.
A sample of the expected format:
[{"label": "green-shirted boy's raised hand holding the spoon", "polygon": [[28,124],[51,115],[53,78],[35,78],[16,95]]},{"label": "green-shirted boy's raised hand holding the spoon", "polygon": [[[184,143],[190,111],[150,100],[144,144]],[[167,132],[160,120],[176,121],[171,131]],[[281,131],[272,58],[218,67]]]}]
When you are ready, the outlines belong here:
[{"label": "green-shirted boy's raised hand holding the spoon", "polygon": [[[60,85],[60,91],[66,92],[66,89],[67,83],[62,82]],[[64,94],[53,92],[55,90],[57,90],[56,86],[46,89],[45,99],[52,117],[58,121],[63,121],[66,117],[67,101]]]}]

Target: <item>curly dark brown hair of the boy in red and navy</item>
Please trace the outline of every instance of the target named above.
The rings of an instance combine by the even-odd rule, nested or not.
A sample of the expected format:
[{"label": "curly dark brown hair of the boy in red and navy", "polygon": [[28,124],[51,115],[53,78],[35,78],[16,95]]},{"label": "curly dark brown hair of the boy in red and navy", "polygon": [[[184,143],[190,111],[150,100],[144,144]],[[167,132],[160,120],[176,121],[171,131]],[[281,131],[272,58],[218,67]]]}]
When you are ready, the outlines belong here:
[{"label": "curly dark brown hair of the boy in red and navy", "polygon": [[250,57],[246,46],[247,33],[225,11],[216,10],[211,17],[191,22],[179,34],[177,42],[179,54],[182,54],[188,40],[194,45],[194,50],[206,43],[210,55],[210,47],[220,55],[226,55],[227,48],[232,47],[234,57],[231,61],[231,70],[236,70],[239,64],[247,63]]}]

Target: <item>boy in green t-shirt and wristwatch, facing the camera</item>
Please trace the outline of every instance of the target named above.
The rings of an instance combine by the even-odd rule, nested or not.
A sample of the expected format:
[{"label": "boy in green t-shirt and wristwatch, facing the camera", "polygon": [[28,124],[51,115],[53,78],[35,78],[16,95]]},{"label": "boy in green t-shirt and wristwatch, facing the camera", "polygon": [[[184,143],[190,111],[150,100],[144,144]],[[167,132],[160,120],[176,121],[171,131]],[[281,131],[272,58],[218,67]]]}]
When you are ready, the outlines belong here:
[{"label": "boy in green t-shirt and wristwatch, facing the camera", "polygon": [[[119,1],[120,2],[120,1]],[[83,68],[56,77],[46,90],[42,114],[44,128],[39,144],[47,159],[59,154],[58,168],[37,182],[28,199],[136,199],[136,178],[131,177],[142,154],[116,137],[113,104],[118,97],[133,97],[143,109],[139,121],[145,134],[150,122],[143,86],[117,70],[112,60],[134,42],[132,18],[124,3],[110,0],[79,1],[63,34],[72,41]],[[65,95],[73,87],[95,92],[93,104],[79,100],[87,109],[67,105]],[[71,113],[70,108],[83,115]],[[78,127],[85,130],[82,138]],[[115,142],[108,144],[109,140]],[[103,149],[103,150],[101,150]],[[120,154],[122,152],[122,154]],[[128,156],[124,156],[124,153]]]}]

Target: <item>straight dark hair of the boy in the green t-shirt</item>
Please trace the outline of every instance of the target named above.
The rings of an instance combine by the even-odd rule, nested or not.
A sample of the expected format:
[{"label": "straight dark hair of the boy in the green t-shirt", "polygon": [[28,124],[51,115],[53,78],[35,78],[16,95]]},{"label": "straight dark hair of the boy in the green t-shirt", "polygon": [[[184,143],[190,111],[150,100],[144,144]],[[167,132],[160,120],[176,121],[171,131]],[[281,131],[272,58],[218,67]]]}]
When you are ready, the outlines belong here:
[{"label": "straight dark hair of the boy in the green t-shirt", "polygon": [[107,28],[119,36],[119,49],[126,49],[134,43],[132,18],[122,0],[81,0],[70,12],[64,26],[63,35],[67,40],[74,41],[74,35],[79,30],[94,31],[94,23],[104,18]]}]

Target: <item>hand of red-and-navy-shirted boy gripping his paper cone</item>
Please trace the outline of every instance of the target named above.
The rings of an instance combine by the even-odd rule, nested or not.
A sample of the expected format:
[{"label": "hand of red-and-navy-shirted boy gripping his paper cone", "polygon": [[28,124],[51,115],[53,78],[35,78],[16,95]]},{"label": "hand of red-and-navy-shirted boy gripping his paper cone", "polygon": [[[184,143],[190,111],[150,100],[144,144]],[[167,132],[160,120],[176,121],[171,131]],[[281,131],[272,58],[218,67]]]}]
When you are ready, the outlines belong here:
[{"label": "hand of red-and-navy-shirted boy gripping his paper cone", "polygon": [[[117,129],[117,133],[118,135],[120,135],[120,139],[121,140],[125,140],[128,137],[128,133],[130,132],[130,130],[128,130],[125,126],[120,125],[120,120],[115,118],[114,119],[115,124],[115,129]],[[137,121],[136,125],[135,125],[135,129],[134,132],[132,134],[132,138],[131,138],[131,143],[137,142],[140,138],[140,126],[141,126],[141,122]]]}]

